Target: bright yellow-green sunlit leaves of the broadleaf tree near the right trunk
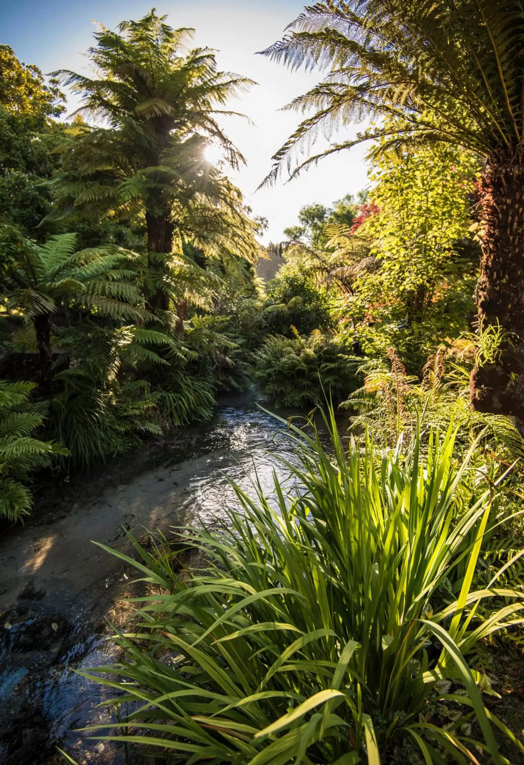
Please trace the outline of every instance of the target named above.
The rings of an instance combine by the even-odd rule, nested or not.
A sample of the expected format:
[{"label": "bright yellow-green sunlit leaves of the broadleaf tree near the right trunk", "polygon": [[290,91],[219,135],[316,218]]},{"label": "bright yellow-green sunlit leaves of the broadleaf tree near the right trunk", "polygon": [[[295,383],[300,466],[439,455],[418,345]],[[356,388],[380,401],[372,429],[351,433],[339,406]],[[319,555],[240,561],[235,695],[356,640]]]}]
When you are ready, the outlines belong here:
[{"label": "bright yellow-green sunlit leaves of the broadleaf tree near the right trunk", "polygon": [[470,155],[441,146],[376,161],[370,198],[379,211],[364,225],[382,264],[376,278],[361,285],[369,303],[381,291],[394,295],[405,306],[405,321],[421,321],[453,276],[454,245],[468,237],[476,171]]}]

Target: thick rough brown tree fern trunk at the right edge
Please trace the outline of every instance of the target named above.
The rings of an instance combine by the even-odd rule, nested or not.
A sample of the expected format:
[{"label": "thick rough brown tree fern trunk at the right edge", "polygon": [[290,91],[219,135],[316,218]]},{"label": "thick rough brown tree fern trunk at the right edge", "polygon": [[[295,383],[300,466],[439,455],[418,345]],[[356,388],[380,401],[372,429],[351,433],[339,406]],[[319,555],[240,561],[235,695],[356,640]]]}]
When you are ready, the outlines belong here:
[{"label": "thick rough brown tree fern trunk at the right edge", "polygon": [[478,412],[524,423],[524,144],[493,151],[481,183],[483,242],[477,308],[480,330],[503,330],[493,363],[476,364]]}]

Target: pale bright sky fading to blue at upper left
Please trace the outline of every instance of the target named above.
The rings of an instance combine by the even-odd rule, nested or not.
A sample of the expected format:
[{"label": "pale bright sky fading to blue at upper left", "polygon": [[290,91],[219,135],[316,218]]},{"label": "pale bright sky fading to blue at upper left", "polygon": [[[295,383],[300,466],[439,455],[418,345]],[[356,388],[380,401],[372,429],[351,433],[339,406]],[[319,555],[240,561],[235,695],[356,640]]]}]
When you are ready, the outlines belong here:
[{"label": "pale bright sky fading to blue at upper left", "polygon": [[[0,0],[0,43],[11,45],[25,63],[44,73],[57,69],[88,71],[83,55],[93,42],[93,21],[109,28],[122,19],[141,18],[154,0]],[[229,173],[255,215],[267,217],[265,242],[279,242],[283,229],[297,222],[304,204],[330,205],[367,185],[365,147],[355,147],[321,161],[298,178],[285,178],[256,190],[272,167],[272,155],[295,130],[301,116],[282,106],[321,80],[321,73],[291,72],[282,63],[255,55],[282,37],[287,24],[304,9],[295,0],[156,0],[158,14],[173,27],[195,29],[194,44],[218,51],[221,70],[258,83],[232,101],[230,109],[249,117],[224,118],[221,125],[247,161]],[[73,111],[76,101],[69,100]],[[358,128],[351,127],[350,133]],[[360,128],[361,129],[361,128]]]}]

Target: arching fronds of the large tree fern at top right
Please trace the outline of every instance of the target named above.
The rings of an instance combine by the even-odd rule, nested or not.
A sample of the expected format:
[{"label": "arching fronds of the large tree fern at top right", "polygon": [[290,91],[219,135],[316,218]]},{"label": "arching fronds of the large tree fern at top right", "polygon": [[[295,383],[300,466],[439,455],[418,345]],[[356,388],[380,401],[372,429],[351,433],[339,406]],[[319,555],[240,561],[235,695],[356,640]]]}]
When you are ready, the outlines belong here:
[{"label": "arching fronds of the large tree fern at top right", "polygon": [[[486,156],[524,138],[524,18],[516,0],[327,0],[311,5],[262,54],[327,70],[288,109],[310,112],[275,154],[273,181],[368,140],[454,142]],[[295,164],[319,135],[394,117]]]}]

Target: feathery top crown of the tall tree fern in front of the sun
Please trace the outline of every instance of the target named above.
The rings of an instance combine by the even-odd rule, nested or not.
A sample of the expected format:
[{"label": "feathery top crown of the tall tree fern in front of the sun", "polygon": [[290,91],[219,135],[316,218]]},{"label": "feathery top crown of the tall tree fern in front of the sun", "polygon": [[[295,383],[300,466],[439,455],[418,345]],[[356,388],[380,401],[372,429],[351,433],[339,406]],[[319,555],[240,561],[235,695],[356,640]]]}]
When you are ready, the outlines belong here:
[{"label": "feathery top crown of the tall tree fern in front of the sun", "polygon": [[223,145],[236,166],[243,162],[242,155],[223,134],[216,116],[252,80],[220,72],[216,51],[210,48],[184,54],[192,31],[172,29],[165,18],[151,11],[139,21],[122,21],[117,32],[100,25],[96,46],[88,51],[94,76],[68,70],[54,76],[80,94],[79,112],[109,120],[116,129],[129,129],[125,120],[131,114],[145,128],[150,144],[158,128],[167,135],[202,131]]}]

